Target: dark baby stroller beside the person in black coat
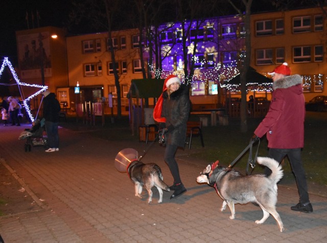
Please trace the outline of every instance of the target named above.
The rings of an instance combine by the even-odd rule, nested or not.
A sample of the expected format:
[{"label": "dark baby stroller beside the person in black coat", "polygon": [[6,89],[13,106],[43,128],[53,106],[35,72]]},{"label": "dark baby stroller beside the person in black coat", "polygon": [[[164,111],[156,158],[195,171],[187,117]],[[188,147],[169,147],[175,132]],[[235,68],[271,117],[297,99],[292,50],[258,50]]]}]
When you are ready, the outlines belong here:
[{"label": "dark baby stroller beside the person in black coat", "polygon": [[25,152],[31,151],[32,146],[43,146],[46,147],[48,144],[44,128],[45,120],[35,120],[31,129],[25,129],[20,133],[19,140],[26,139],[24,148]]}]

